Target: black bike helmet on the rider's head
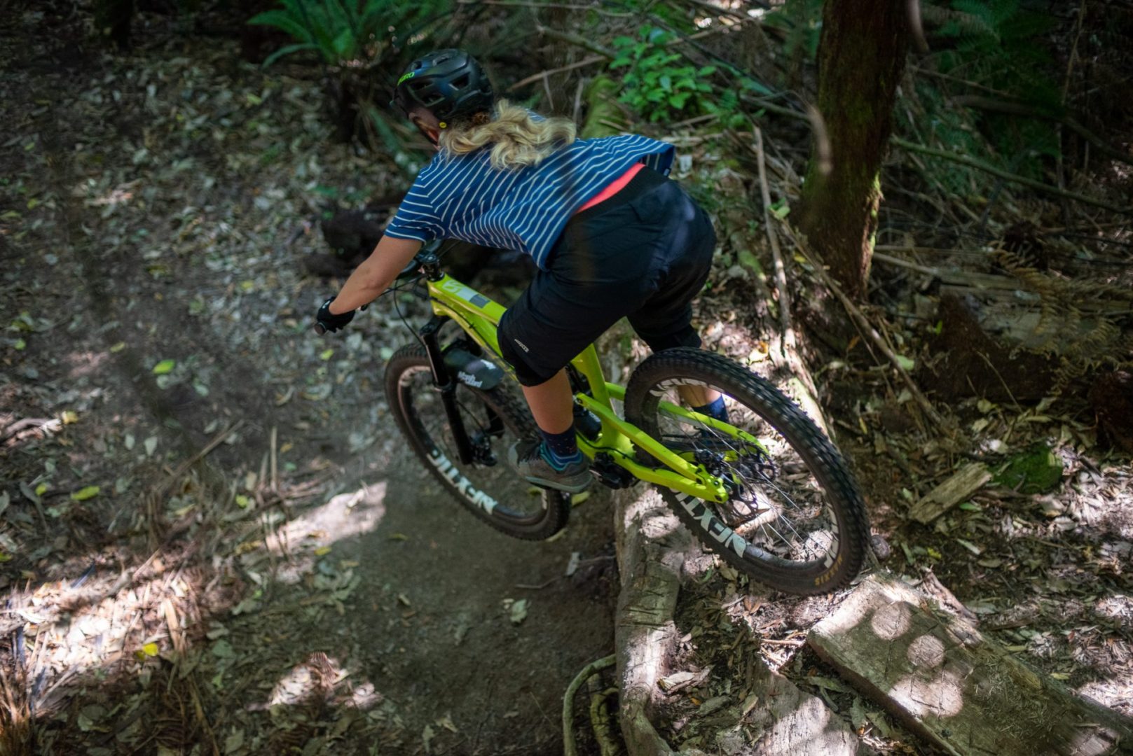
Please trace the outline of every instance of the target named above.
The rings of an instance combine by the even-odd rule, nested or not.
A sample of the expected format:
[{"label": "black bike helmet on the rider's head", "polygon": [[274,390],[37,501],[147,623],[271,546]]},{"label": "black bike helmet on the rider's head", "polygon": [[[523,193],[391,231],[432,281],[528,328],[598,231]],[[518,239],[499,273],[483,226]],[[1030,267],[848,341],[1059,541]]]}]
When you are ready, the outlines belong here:
[{"label": "black bike helmet on the rider's head", "polygon": [[492,83],[476,59],[463,50],[437,50],[409,63],[393,89],[393,102],[409,114],[420,105],[441,128],[461,117],[492,108]]}]

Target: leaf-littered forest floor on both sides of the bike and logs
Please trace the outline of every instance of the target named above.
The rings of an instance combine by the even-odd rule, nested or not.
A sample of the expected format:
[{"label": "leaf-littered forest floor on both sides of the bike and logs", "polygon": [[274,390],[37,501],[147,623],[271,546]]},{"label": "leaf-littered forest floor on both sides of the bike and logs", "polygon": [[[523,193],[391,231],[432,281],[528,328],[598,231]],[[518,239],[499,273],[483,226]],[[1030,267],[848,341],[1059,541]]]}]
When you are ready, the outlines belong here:
[{"label": "leaf-littered forest floor on both sides of the bike and logs", "polygon": [[[0,29],[16,57],[0,81],[6,742],[557,753],[563,690],[613,651],[608,495],[550,543],[474,522],[389,418],[382,362],[411,338],[392,308],[310,332],[334,291],[303,267],[324,251],[323,212],[404,177],[333,141],[315,76],[176,34],[110,57],[44,23],[27,11]],[[698,317],[710,347],[759,370],[761,324],[731,272]],[[887,567],[935,576],[1022,659],[1133,714],[1127,459],[1096,450],[1076,405],[973,398],[949,411],[952,432],[988,458],[1049,443],[1058,486],[988,488],[910,523],[909,501],[963,455],[881,371],[835,362],[827,404]],[[46,422],[11,431],[23,419]],[[588,566],[568,578],[573,552]],[[837,601],[710,569],[679,625],[699,668],[758,648],[879,749],[930,753],[800,651]],[[674,744],[695,738],[693,696],[718,680],[674,699]]]}]

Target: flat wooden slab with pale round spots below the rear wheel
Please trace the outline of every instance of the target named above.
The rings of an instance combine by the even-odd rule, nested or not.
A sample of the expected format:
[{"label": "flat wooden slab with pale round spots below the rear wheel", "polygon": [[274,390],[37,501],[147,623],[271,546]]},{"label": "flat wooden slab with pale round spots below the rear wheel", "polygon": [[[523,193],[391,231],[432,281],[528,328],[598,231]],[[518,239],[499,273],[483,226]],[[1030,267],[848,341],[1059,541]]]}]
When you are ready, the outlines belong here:
[{"label": "flat wooden slab with pale round spots below the rear wheel", "polygon": [[1036,673],[885,573],[854,589],[807,642],[947,754],[1108,756],[1133,744],[1133,720]]}]

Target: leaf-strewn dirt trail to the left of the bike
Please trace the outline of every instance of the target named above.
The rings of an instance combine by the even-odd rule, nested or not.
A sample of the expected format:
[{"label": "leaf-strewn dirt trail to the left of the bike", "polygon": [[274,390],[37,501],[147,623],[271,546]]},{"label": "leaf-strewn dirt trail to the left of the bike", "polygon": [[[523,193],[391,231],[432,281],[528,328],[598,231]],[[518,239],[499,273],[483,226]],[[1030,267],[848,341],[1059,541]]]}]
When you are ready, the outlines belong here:
[{"label": "leaf-strewn dirt trail to the left of the bike", "polygon": [[[39,706],[58,715],[41,745],[554,753],[562,691],[612,651],[608,498],[552,543],[475,522],[386,413],[383,355],[408,340],[390,307],[310,334],[335,286],[301,274],[321,247],[316,189],[384,189],[383,165],[329,143],[314,81],[233,67],[235,41],[110,58],[51,11],[10,23],[2,316],[28,327],[5,352],[0,413],[76,419],[0,456],[5,590],[41,599],[19,632],[42,647],[53,698]],[[208,472],[163,489],[233,426]],[[270,456],[283,502],[262,496]],[[40,481],[33,506],[20,483]],[[173,525],[146,560],[154,512]],[[600,558],[569,579],[572,551]],[[180,630],[162,591],[174,620],[193,599]],[[508,599],[528,600],[520,622]],[[163,675],[182,682],[152,685]],[[321,676],[331,691],[313,703]],[[189,688],[205,721],[171,733],[168,698]]]}]

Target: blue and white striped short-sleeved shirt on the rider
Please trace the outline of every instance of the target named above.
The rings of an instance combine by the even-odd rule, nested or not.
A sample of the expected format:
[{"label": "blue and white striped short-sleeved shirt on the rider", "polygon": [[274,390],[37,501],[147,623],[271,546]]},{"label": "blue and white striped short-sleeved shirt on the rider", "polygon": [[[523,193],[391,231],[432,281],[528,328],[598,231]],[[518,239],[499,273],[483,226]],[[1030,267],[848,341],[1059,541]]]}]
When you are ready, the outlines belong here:
[{"label": "blue and white striped short-sleeved shirt on the rider", "polygon": [[577,139],[535,166],[496,170],[491,147],[437,153],[409,189],[385,233],[398,239],[460,239],[526,252],[546,269],[563,225],[634,163],[667,174],[675,151],[648,137]]}]

